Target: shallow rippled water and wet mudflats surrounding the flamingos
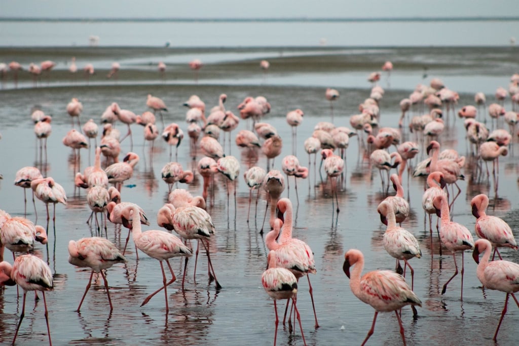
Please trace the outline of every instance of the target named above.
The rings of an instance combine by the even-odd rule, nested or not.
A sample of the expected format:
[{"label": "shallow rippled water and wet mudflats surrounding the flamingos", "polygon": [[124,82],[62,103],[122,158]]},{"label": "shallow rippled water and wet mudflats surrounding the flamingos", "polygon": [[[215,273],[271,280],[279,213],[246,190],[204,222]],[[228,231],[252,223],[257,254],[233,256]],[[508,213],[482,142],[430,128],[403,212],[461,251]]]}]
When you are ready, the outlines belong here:
[{"label": "shallow rippled water and wet mudflats surrounding the flamingos", "polygon": [[[460,53],[461,51],[461,53]],[[46,175],[52,176],[63,185],[69,203],[56,208],[56,236],[51,231],[48,248],[37,246],[36,254],[48,260],[54,273],[54,291],[48,292],[47,303],[51,336],[54,344],[271,344],[274,333],[273,303],[261,286],[261,274],[266,265],[266,249],[261,228],[265,199],[258,205],[257,223],[252,217],[246,222],[249,190],[242,174],[248,167],[248,158],[236,145],[231,154],[241,162],[240,177],[237,181],[237,210],[231,195],[230,208],[227,209],[226,185],[223,177],[216,178],[215,203],[209,206],[216,227],[216,236],[212,246],[212,260],[223,288],[216,291],[214,284],[208,284],[207,259],[201,256],[198,263],[196,280],[193,277],[194,261],[189,261],[185,290],[180,288],[180,281],[168,289],[169,315],[165,316],[165,302],[158,294],[144,307],[139,307],[142,300],[160,287],[161,274],[156,260],[141,253],[136,260],[132,241],[127,252],[128,263],[118,264],[108,270],[108,283],[114,302],[114,311],[109,313],[101,278],[92,285],[85,298],[81,313],[77,308],[84,292],[90,272],[76,269],[67,262],[67,244],[70,239],[90,236],[94,230],[85,222],[90,215],[86,204],[85,190],[74,189],[73,178],[78,167],[74,167],[71,150],[64,147],[61,139],[71,128],[71,120],[65,112],[66,104],[72,97],[78,97],[84,105],[81,123],[88,118],[99,119],[104,109],[111,102],[118,102],[122,108],[142,113],[146,110],[146,95],[151,93],[161,97],[168,105],[165,113],[167,122],[177,122],[184,128],[186,109],[182,103],[190,95],[197,94],[210,108],[217,104],[218,95],[225,92],[228,96],[226,108],[236,111],[236,106],[244,97],[263,95],[272,105],[272,111],[265,121],[272,123],[280,132],[284,145],[280,157],[275,159],[275,166],[280,167],[281,158],[292,153],[290,131],[286,126],[287,111],[301,108],[305,112],[304,122],[297,129],[297,156],[303,165],[308,158],[303,149],[303,141],[311,135],[313,126],[319,121],[330,121],[330,105],[324,98],[326,86],[336,87],[340,98],[334,103],[335,124],[350,126],[348,118],[357,113],[358,104],[369,95],[370,84],[366,81],[371,71],[378,70],[386,60],[397,60],[402,64],[395,70],[388,81],[381,81],[386,94],[381,101],[381,120],[384,126],[397,126],[400,109],[398,102],[407,97],[418,83],[428,83],[433,76],[444,79],[447,86],[460,91],[459,106],[473,103],[476,91],[485,91],[487,100],[493,99],[493,92],[498,86],[507,87],[517,51],[509,48],[490,54],[483,48],[466,49],[366,49],[351,51],[293,49],[207,49],[173,51],[166,55],[164,50],[143,49],[66,49],[66,50],[6,50],[2,56],[18,59],[22,62],[42,61],[49,56],[61,56],[57,71],[52,71],[50,80],[45,76],[39,87],[32,87],[32,80],[24,76],[19,88],[13,88],[11,75],[7,76],[5,89],[0,92],[0,157],[3,165],[0,173],[4,179],[0,182],[2,203],[0,208],[11,216],[23,215],[23,196],[20,188],[12,184],[16,171],[28,165],[42,167],[36,158],[33,124],[30,119],[32,107],[38,105],[45,113],[52,115],[52,135],[48,140],[48,161]],[[155,64],[159,57],[170,56],[171,72],[168,70],[166,81],[159,80]],[[184,53],[184,54],[183,54]],[[472,53],[472,54],[470,54]],[[89,84],[78,76],[77,80],[66,73],[65,61],[74,54],[83,61],[95,57],[101,66]],[[458,55],[469,57],[469,62],[458,62]],[[186,67],[189,56],[213,57],[212,63],[200,71],[198,84],[193,81],[193,74]],[[270,59],[276,55],[274,59]],[[186,58],[182,61],[180,56]],[[271,70],[264,77],[258,68],[263,57],[271,60]],[[496,57],[497,56],[497,57]],[[122,58],[121,58],[122,57]],[[119,58],[121,58],[119,60]],[[393,59],[394,58],[394,59]],[[434,68],[428,69],[428,77],[422,78],[422,66],[426,60]],[[122,69],[118,82],[105,79],[106,69],[114,60],[121,62]],[[130,69],[126,62],[133,62]],[[209,61],[209,59],[208,59]],[[454,61],[454,64],[453,64]],[[393,61],[394,62],[394,61]],[[407,63],[406,63],[407,62]],[[129,63],[128,63],[129,65]],[[170,64],[168,64],[169,66]],[[78,66],[81,66],[78,63]],[[438,73],[435,73],[438,72]],[[343,78],[344,77],[344,78]],[[316,83],[316,81],[319,81]],[[326,83],[329,82],[329,83]],[[455,87],[456,86],[456,87]],[[492,101],[490,101],[492,102]],[[505,107],[510,109],[509,100]],[[241,122],[238,129],[247,128],[247,122]],[[159,125],[160,127],[160,125]],[[124,134],[125,127],[118,125]],[[234,135],[237,130],[233,132]],[[143,148],[142,130],[132,126],[133,151],[141,156],[133,177],[122,188],[122,199],[138,203],[144,208],[155,225],[155,215],[167,199],[167,184],[160,179],[160,169],[169,162],[169,148],[160,138],[156,140],[153,162],[149,149]],[[443,148],[454,148],[461,153],[467,152],[463,136],[465,129],[462,121],[454,117],[449,119],[449,127],[439,141]],[[187,138],[187,136],[186,136]],[[408,131],[403,132],[403,139],[413,139]],[[233,143],[234,144],[234,143]],[[121,152],[130,149],[129,140],[121,144]],[[517,155],[516,137],[513,152]],[[393,269],[394,260],[386,253],[382,245],[385,226],[380,223],[376,206],[385,197],[381,189],[378,172],[370,171],[366,161],[359,157],[357,138],[353,137],[347,149],[347,172],[345,188],[339,192],[340,212],[334,213],[329,185],[315,179],[312,170],[306,180],[298,180],[299,204],[290,181],[290,198],[294,204],[294,236],[306,241],[312,248],[317,274],[310,280],[315,297],[320,328],[313,328],[313,314],[308,297],[308,281],[300,282],[298,307],[302,316],[303,329],[307,344],[360,344],[370,328],[373,309],[354,297],[349,288],[349,280],[342,271],[344,252],[349,248],[358,248],[365,255],[365,270]],[[419,154],[419,156],[422,153]],[[425,154],[423,154],[425,155]],[[200,158],[197,155],[197,160]],[[93,156],[91,157],[93,161]],[[187,140],[179,148],[179,162],[184,168],[193,164],[189,156]],[[475,218],[471,215],[470,199],[479,193],[488,193],[490,210],[511,225],[514,232],[519,227],[517,218],[518,184],[517,158],[511,154],[499,159],[498,197],[494,186],[483,177],[480,183],[472,181],[470,164],[473,158],[468,156],[468,165],[463,172],[467,179],[460,181],[461,194],[454,205],[454,220],[469,230],[473,230]],[[81,151],[80,170],[89,165],[89,155]],[[266,159],[260,155],[257,165],[266,167]],[[406,179],[404,177],[404,179]],[[491,180],[491,179],[490,179]],[[314,185],[317,182],[317,186]],[[197,176],[194,184],[187,188],[193,194],[201,194],[201,178]],[[440,295],[443,283],[454,271],[452,256],[440,259],[438,238],[433,234],[433,248],[428,225],[425,223],[421,208],[421,194],[424,188],[422,179],[412,178],[406,195],[411,205],[411,217],[403,227],[415,234],[420,242],[423,257],[413,259],[415,269],[415,292],[423,303],[418,308],[418,318],[413,319],[410,309],[404,309],[402,320],[408,344],[493,344],[495,327],[502,310],[504,294],[485,290],[475,276],[476,265],[467,252],[465,259],[465,281],[463,301],[460,300],[460,278],[456,277],[448,286],[445,295]],[[285,189],[283,196],[288,195]],[[38,224],[45,223],[45,206],[36,201]],[[253,207],[254,210],[254,207]],[[35,221],[36,216],[31,203],[28,204],[28,218]],[[229,217],[227,216],[229,214]],[[108,238],[120,247],[124,247],[126,230],[116,231],[108,225]],[[473,234],[475,237],[475,234]],[[434,252],[434,254],[432,254]],[[519,262],[517,252],[502,250],[505,259]],[[5,258],[10,260],[9,251]],[[461,256],[457,256],[458,263]],[[180,260],[172,260],[177,276],[182,275],[183,265]],[[34,304],[32,295],[28,295],[25,318],[21,325],[18,344],[47,342],[43,302]],[[279,304],[280,308],[284,304]],[[280,309],[281,311],[281,309]],[[17,298],[16,289],[9,287],[0,294],[0,342],[8,344],[16,330],[21,312],[21,297]],[[282,312],[280,312],[282,313]],[[503,321],[498,344],[512,344],[517,338],[515,326],[519,322],[519,313],[513,303]],[[344,328],[342,328],[344,326]],[[380,314],[375,334],[370,344],[401,344],[398,324],[394,314]],[[280,328],[278,344],[302,345],[299,328],[295,337],[289,336],[288,330]]]}]

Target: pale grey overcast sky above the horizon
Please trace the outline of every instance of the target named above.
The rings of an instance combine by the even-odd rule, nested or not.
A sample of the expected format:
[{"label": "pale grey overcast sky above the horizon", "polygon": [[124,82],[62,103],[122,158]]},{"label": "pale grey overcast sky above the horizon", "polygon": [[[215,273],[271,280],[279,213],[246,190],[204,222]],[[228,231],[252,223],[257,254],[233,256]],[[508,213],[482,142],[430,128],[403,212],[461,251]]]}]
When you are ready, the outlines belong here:
[{"label": "pale grey overcast sky above the horizon", "polygon": [[517,0],[0,0],[0,17],[519,16]]}]

